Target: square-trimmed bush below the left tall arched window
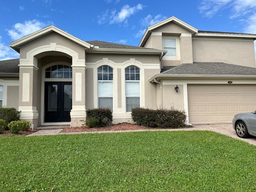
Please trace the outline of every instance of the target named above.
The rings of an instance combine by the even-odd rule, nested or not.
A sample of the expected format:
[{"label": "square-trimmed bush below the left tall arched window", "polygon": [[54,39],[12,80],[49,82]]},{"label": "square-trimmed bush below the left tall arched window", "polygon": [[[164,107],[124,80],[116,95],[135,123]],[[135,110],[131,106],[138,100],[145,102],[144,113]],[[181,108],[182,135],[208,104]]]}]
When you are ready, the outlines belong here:
[{"label": "square-trimmed bush below the left tall arched window", "polygon": [[112,125],[113,115],[110,108],[92,108],[86,110],[86,125],[89,127],[95,124],[98,126]]}]

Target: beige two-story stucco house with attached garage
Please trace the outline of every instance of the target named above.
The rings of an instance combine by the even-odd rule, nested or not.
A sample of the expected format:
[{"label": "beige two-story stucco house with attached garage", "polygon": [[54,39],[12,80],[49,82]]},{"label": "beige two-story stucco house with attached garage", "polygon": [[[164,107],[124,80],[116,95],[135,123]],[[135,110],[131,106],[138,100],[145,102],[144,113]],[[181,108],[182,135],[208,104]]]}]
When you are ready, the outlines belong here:
[{"label": "beige two-story stucco house with attached garage", "polygon": [[110,107],[114,123],[129,122],[133,107],[185,110],[188,124],[230,123],[256,110],[255,39],[175,17],[148,27],[137,47],[49,26],[10,44],[20,59],[0,61],[0,104],[35,127],[80,126],[98,107]]}]

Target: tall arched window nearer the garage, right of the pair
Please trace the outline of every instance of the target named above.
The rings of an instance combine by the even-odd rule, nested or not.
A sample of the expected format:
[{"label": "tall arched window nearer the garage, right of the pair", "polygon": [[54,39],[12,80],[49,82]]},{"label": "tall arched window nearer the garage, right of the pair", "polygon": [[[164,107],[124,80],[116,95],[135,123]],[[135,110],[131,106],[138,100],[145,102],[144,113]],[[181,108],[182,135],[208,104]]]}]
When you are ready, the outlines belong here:
[{"label": "tall arched window nearer the garage, right of the pair", "polygon": [[140,107],[140,69],[136,66],[125,68],[126,112]]}]

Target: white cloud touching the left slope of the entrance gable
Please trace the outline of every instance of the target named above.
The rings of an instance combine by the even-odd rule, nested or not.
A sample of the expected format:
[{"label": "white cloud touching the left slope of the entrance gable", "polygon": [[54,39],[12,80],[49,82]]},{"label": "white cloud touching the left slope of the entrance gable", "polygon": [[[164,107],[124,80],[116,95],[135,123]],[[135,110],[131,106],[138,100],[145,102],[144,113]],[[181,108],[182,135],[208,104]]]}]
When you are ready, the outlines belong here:
[{"label": "white cloud touching the left slope of the entrance gable", "polygon": [[14,24],[13,29],[8,30],[8,35],[12,40],[17,40],[50,24],[52,24],[52,22],[40,22],[39,20],[28,20],[24,23],[16,23]]}]

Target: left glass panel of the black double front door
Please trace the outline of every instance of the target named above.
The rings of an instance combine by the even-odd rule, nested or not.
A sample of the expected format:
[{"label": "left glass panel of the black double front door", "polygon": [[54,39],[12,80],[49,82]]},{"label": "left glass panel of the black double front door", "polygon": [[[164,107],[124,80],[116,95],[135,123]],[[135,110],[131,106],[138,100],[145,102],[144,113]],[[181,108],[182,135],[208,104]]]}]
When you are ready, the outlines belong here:
[{"label": "left glass panel of the black double front door", "polygon": [[48,85],[48,111],[57,111],[58,85]]}]

